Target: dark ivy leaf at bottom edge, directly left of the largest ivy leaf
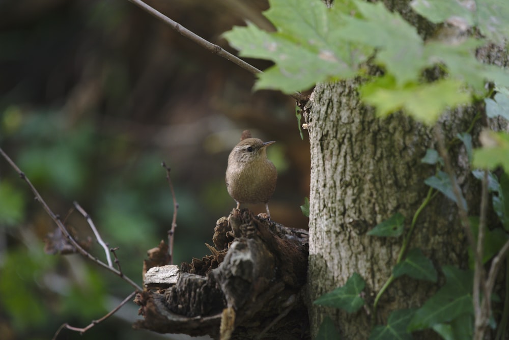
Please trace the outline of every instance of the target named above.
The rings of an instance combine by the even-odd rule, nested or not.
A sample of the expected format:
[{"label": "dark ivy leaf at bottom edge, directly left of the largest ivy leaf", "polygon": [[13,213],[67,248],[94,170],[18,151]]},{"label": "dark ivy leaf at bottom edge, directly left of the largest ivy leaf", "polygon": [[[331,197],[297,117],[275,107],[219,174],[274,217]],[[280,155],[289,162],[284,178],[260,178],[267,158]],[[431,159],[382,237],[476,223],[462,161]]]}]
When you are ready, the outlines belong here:
[{"label": "dark ivy leaf at bottom edge, directly left of the largest ivy leaf", "polygon": [[408,324],[415,313],[415,308],[394,310],[387,320],[387,325],[377,325],[370,334],[370,340],[410,340],[412,334],[407,332]]}]

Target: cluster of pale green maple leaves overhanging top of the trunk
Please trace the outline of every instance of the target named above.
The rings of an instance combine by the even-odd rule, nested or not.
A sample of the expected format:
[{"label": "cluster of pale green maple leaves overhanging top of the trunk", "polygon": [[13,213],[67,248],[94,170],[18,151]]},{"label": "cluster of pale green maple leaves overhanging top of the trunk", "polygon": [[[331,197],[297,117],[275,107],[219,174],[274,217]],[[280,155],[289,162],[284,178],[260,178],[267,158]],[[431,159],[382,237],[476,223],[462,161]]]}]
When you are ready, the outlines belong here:
[{"label": "cluster of pale green maple leaves overhanging top of the trunk", "polygon": [[[494,0],[473,10],[455,0],[435,1],[431,8],[420,1],[413,6],[436,23],[454,19],[459,20],[456,24],[475,25],[497,42],[508,26],[501,19],[507,9],[500,10]],[[444,9],[443,13],[438,9]],[[486,80],[509,85],[509,72],[475,58],[476,48],[486,41],[425,43],[415,27],[382,2],[345,0],[327,8],[320,0],[271,0],[265,16],[277,32],[267,33],[248,23],[224,34],[241,55],[275,63],[259,75],[255,89],[292,93],[316,82],[363,76],[363,64],[373,56],[385,72],[360,87],[361,98],[375,106],[379,116],[403,109],[433,124],[446,108],[469,103],[472,91],[485,91]],[[492,25],[490,20],[502,22]],[[423,81],[423,70],[436,65],[447,77]]]}]

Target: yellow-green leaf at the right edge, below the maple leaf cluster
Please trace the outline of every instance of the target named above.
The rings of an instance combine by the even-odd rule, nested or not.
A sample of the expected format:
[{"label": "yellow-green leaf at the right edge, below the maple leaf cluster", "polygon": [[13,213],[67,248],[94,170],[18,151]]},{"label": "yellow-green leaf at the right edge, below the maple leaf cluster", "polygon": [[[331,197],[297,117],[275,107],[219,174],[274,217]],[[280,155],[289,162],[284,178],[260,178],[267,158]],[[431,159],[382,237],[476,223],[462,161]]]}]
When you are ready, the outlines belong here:
[{"label": "yellow-green leaf at the right edge, below the maple leaf cluster", "polygon": [[473,152],[472,165],[493,170],[501,165],[509,173],[509,134],[506,132],[482,131],[479,139],[482,148]]}]

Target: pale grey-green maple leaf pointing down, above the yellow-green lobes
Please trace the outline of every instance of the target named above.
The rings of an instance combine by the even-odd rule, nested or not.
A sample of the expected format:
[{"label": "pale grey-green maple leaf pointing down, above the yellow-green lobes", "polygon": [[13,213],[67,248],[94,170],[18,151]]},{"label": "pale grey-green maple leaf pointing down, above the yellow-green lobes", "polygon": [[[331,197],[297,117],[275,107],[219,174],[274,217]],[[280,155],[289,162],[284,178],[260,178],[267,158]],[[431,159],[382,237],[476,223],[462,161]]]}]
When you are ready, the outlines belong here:
[{"label": "pale grey-green maple leaf pointing down, above the yellow-green lobes", "polygon": [[[352,43],[376,47],[376,60],[391,73],[398,86],[415,81],[425,67],[422,39],[414,26],[397,12],[390,12],[382,2],[355,2],[362,18],[345,17],[339,35]],[[336,5],[338,6],[338,5]]]}]

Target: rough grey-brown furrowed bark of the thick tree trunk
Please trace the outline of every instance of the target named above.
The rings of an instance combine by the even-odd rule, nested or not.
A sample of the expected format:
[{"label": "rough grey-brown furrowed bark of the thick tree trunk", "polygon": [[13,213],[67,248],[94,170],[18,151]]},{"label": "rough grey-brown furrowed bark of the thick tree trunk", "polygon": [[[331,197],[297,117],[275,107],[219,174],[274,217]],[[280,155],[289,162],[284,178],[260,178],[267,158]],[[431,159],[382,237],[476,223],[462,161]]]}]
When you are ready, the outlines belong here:
[{"label": "rough grey-brown furrowed bark of the thick tree trunk", "polygon": [[[422,36],[431,26],[422,25],[408,10],[406,1],[385,2],[418,27]],[[420,22],[419,22],[420,21]],[[479,51],[479,58],[506,65],[507,54],[496,46]],[[312,334],[325,315],[333,318],[345,339],[369,337],[372,322],[386,323],[392,310],[418,307],[438,285],[405,277],[395,280],[378,304],[377,316],[366,309],[347,314],[311,302],[345,284],[354,272],[366,280],[364,296],[371,306],[377,292],[391,274],[401,248],[401,238],[377,238],[366,232],[396,212],[406,216],[406,230],[425,198],[424,180],[434,167],[420,159],[434,148],[431,129],[395,114],[378,119],[359,100],[359,80],[318,84],[308,103],[311,144],[311,187],[309,216],[309,313]],[[446,140],[465,131],[477,110],[463,107],[450,112],[438,125]],[[474,129],[475,134],[479,127]],[[475,143],[475,142],[474,142]],[[469,172],[464,148],[451,149],[456,175],[471,210],[478,214],[480,190]],[[439,194],[420,214],[411,248],[421,248],[439,270],[441,265],[466,267],[467,243],[455,204]],[[375,317],[376,320],[372,320]],[[435,338],[433,332],[415,338]]]}]

